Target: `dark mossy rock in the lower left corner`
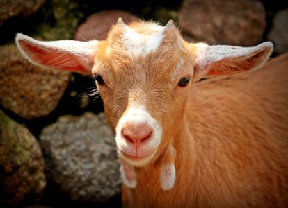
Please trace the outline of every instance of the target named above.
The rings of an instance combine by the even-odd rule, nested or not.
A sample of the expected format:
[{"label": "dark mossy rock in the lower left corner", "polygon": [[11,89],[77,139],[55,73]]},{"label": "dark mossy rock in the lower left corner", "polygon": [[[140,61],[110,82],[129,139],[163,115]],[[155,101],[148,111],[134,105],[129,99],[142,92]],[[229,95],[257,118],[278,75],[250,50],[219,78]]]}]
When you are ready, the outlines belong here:
[{"label": "dark mossy rock in the lower left corner", "polygon": [[40,193],[45,184],[35,137],[0,111],[0,207],[18,205],[27,193]]}]

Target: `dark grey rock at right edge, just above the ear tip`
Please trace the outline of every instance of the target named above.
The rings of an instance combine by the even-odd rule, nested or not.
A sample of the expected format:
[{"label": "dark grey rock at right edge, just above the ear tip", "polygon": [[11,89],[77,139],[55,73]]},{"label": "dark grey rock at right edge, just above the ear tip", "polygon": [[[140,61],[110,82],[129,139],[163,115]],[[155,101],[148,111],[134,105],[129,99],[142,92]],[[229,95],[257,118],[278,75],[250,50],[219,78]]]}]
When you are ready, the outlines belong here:
[{"label": "dark grey rock at right edge, just above the ear tip", "polygon": [[282,10],[275,15],[268,39],[275,44],[274,51],[276,53],[288,51],[288,9]]}]

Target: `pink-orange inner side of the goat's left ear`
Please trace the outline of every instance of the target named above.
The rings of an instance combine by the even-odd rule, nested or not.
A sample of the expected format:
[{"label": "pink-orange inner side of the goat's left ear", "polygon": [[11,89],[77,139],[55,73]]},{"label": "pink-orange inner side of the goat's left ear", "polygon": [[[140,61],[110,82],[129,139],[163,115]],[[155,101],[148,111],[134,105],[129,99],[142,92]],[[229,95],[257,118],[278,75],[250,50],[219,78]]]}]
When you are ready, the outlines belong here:
[{"label": "pink-orange inner side of the goat's left ear", "polygon": [[82,66],[77,55],[68,51],[48,47],[42,48],[41,46],[26,42],[25,40],[19,40],[19,44],[21,44],[31,60],[45,67],[64,71],[88,72],[86,68]]}]

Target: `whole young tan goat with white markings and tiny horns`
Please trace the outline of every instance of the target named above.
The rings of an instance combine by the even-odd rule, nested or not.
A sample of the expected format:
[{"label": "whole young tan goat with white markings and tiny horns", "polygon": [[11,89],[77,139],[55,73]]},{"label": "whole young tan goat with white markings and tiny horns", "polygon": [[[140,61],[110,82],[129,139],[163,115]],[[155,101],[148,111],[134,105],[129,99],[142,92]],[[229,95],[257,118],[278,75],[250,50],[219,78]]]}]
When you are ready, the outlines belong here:
[{"label": "whole young tan goat with white markings and tiny horns", "polygon": [[126,207],[288,206],[287,55],[261,67],[271,42],[189,43],[173,21],[122,19],[104,41],[16,42],[35,64],[93,75]]}]

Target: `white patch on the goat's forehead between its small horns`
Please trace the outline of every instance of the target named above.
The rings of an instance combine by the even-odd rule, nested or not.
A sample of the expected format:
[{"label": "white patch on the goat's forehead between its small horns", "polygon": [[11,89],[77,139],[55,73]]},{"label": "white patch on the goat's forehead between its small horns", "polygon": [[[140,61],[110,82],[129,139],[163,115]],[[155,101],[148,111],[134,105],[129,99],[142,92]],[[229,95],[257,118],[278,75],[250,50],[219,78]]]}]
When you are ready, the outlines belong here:
[{"label": "white patch on the goat's forehead between its small horns", "polygon": [[138,57],[139,55],[147,55],[160,46],[164,30],[163,26],[151,25],[147,33],[137,33],[134,28],[125,26],[122,39],[127,51]]}]

